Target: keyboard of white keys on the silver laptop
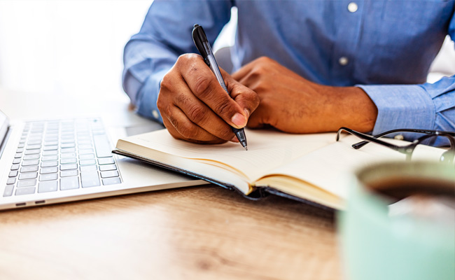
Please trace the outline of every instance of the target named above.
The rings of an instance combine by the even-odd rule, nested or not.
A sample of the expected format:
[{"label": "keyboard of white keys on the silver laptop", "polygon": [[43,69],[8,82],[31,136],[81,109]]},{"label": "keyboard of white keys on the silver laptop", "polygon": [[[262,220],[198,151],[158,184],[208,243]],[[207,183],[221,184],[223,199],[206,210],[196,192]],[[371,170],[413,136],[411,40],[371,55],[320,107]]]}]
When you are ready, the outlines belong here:
[{"label": "keyboard of white keys on the silver laptop", "polygon": [[121,183],[99,118],[29,122],[3,197]]}]

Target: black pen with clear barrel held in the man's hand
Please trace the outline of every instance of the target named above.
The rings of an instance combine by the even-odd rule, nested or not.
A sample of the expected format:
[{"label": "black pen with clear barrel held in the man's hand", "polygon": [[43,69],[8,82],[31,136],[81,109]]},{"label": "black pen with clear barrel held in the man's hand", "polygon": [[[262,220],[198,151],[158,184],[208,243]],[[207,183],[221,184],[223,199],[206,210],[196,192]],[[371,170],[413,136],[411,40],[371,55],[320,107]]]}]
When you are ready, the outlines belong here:
[{"label": "black pen with clear barrel held in the man's hand", "polygon": [[[204,58],[204,62],[210,67],[211,71],[214,72],[216,80],[218,80],[218,83],[220,83],[221,87],[223,87],[223,89],[229,94],[228,87],[226,87],[223,76],[221,76],[220,69],[218,68],[218,64],[215,60],[214,52],[211,51],[209,40],[207,40],[207,36],[205,36],[205,32],[204,29],[202,29],[202,26],[195,25],[192,35],[196,48],[199,50],[202,58]],[[234,132],[237,139],[239,139],[241,146],[243,146],[245,150],[248,151],[244,129],[232,127],[232,132]]]}]

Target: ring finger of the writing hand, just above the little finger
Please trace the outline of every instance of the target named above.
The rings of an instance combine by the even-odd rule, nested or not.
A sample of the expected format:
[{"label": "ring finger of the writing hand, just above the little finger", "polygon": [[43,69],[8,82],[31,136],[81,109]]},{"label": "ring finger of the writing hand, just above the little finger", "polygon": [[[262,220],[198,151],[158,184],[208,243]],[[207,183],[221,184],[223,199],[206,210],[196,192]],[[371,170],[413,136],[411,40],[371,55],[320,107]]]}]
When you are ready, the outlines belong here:
[{"label": "ring finger of the writing hand, just above the little finger", "polygon": [[197,99],[192,92],[181,92],[176,95],[174,103],[195,125],[219,139],[230,141],[234,137],[232,128],[220,118],[209,106]]}]

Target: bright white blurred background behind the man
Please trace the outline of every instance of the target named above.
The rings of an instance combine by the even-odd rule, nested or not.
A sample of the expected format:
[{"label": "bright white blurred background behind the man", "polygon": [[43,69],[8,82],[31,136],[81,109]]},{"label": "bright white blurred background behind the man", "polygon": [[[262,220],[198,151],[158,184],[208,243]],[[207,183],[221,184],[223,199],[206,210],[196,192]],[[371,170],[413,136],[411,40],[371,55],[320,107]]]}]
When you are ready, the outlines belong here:
[{"label": "bright white blurred background behind the man", "polygon": [[[139,31],[151,2],[0,0],[0,87],[86,100],[96,94],[127,103],[123,47]],[[233,24],[214,48],[234,43],[233,12]],[[452,41],[437,62],[430,80],[455,73]]]}]

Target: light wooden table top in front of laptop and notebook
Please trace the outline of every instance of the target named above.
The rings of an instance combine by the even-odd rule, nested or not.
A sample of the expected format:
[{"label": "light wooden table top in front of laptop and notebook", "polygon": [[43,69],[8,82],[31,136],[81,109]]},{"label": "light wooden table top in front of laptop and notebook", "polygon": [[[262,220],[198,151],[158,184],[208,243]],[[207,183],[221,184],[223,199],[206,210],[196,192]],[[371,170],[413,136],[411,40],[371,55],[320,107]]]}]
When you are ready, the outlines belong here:
[{"label": "light wooden table top in front of laptop and notebook", "polygon": [[[23,98],[0,97],[9,114]],[[0,211],[0,227],[0,279],[342,278],[334,214],[216,186]]]}]

